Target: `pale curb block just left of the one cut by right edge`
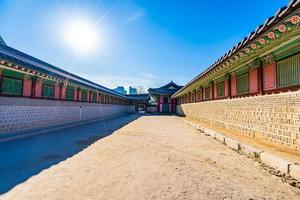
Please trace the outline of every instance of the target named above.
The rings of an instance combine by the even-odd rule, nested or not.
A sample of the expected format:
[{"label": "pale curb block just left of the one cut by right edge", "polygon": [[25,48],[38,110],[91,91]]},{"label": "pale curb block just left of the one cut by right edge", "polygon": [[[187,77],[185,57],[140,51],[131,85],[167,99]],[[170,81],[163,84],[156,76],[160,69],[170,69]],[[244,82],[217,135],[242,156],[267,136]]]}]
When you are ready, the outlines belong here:
[{"label": "pale curb block just left of the one cut by right edge", "polygon": [[280,172],[284,173],[284,174],[288,174],[289,173],[289,166],[291,164],[294,164],[293,162],[289,161],[289,160],[285,160],[279,156],[273,155],[271,153],[268,152],[262,152],[260,154],[260,160],[270,166],[273,167],[274,169],[279,170]]}]

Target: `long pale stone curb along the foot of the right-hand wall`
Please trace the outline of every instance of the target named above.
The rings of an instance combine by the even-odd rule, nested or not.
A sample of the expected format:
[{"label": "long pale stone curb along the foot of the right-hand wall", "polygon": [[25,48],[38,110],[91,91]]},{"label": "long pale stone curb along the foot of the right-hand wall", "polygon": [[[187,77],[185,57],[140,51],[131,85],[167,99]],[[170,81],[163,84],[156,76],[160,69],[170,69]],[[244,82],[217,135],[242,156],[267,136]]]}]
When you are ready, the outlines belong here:
[{"label": "long pale stone curb along the foot of the right-hand wall", "polygon": [[289,175],[292,178],[300,181],[300,165],[298,163],[294,163],[292,161],[286,160],[280,156],[274,155],[269,152],[265,152],[262,149],[253,147],[249,144],[241,143],[236,139],[225,136],[220,132],[216,132],[212,129],[201,127],[198,124],[194,124],[186,119],[183,121],[194,127],[195,129],[201,131],[207,136],[211,136],[216,140],[222,142],[233,150],[237,150],[247,156],[251,156],[253,158],[259,159],[262,163],[266,164],[269,167],[272,167],[283,174]]}]

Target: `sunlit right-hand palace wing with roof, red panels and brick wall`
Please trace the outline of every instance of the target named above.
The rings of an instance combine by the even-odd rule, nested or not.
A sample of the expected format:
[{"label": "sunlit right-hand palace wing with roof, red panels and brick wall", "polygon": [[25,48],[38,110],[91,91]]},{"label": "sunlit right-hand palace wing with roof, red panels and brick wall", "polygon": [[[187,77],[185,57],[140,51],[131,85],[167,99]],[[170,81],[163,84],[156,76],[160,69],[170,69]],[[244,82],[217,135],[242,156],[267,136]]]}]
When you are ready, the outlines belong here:
[{"label": "sunlit right-hand palace wing with roof, red panels and brick wall", "polygon": [[211,128],[300,149],[300,2],[290,1],[172,95]]}]

